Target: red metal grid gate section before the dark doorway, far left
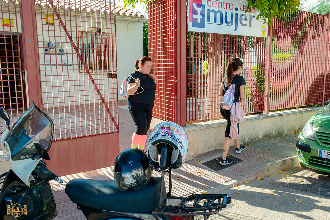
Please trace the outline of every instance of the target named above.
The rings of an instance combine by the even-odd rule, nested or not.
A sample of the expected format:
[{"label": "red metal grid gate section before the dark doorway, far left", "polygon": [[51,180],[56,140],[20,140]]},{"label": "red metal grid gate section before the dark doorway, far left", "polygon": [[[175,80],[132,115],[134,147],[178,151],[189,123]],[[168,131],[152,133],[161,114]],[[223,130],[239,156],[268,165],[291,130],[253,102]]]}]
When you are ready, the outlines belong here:
[{"label": "red metal grid gate section before the dark doorway, far left", "polygon": [[[0,106],[9,112],[13,123],[26,108],[19,7],[11,1],[1,0],[0,11]],[[0,128],[5,127],[0,119]]]}]

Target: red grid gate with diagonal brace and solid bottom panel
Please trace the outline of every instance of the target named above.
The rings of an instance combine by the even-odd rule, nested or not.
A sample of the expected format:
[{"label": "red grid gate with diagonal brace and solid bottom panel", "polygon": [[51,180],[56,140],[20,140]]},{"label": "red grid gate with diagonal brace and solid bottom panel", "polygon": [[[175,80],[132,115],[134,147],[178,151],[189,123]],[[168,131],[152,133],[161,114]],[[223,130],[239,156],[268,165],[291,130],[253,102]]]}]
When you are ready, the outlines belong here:
[{"label": "red grid gate with diagonal brace and solid bottom panel", "polygon": [[115,3],[37,0],[35,9],[42,108],[55,127],[50,166],[62,175],[111,166],[119,153]]}]

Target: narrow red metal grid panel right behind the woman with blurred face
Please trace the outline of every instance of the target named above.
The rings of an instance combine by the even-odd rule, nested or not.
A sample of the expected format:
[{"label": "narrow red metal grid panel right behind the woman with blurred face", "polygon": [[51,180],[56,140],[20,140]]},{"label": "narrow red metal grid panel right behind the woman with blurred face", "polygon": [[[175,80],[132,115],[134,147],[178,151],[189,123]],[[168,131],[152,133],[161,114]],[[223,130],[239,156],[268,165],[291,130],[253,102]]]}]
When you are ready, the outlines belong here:
[{"label": "narrow red metal grid panel right behind the woman with blurred face", "polygon": [[149,57],[157,63],[157,91],[153,116],[175,121],[175,1],[149,3]]}]

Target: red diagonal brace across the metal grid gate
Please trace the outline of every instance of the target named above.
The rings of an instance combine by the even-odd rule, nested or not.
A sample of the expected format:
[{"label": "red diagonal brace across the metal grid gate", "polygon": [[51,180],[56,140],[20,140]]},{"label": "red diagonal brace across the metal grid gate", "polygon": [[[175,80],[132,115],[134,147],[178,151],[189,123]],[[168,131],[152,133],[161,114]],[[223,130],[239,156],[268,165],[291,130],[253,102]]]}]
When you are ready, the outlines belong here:
[{"label": "red diagonal brace across the metal grid gate", "polygon": [[48,0],[48,2],[50,3],[50,5],[51,5],[51,7],[52,7],[52,9],[53,9],[53,11],[54,11],[54,13],[55,13],[55,15],[57,16],[58,20],[60,21],[61,26],[62,26],[62,28],[64,29],[65,33],[66,33],[66,36],[69,38],[69,40],[70,40],[70,42],[71,42],[71,44],[72,44],[72,47],[76,50],[76,53],[77,53],[77,55],[78,55],[78,58],[79,58],[80,61],[82,62],[83,68],[84,68],[85,71],[88,73],[89,79],[92,81],[95,90],[96,90],[97,93],[99,94],[100,99],[102,100],[102,103],[103,103],[104,106],[105,106],[105,109],[106,109],[106,110],[108,111],[108,113],[110,114],[111,120],[114,122],[116,129],[119,131],[119,126],[117,125],[114,116],[111,114],[110,109],[109,109],[107,103],[105,102],[105,99],[103,98],[101,92],[100,92],[100,89],[97,87],[97,85],[96,85],[96,83],[95,83],[95,80],[93,79],[92,75],[89,73],[89,69],[87,68],[86,64],[84,63],[83,58],[82,58],[81,54],[79,53],[78,47],[77,47],[76,44],[73,42],[72,37],[71,37],[69,31],[66,29],[66,26],[65,26],[65,24],[63,23],[63,21],[62,21],[62,19],[61,19],[61,17],[60,17],[60,14],[57,12],[56,8],[54,7],[54,3],[53,3],[53,1]]}]

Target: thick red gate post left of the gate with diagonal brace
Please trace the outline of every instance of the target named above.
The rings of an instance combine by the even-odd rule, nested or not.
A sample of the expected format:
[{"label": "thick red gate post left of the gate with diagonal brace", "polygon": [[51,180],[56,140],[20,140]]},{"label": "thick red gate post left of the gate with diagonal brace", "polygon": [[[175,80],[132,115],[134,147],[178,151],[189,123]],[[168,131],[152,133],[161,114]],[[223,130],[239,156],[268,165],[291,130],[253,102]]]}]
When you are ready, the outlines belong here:
[{"label": "thick red gate post left of the gate with diagonal brace", "polygon": [[36,7],[34,1],[19,1],[23,34],[23,64],[28,106],[34,100],[43,109],[41,97]]}]

